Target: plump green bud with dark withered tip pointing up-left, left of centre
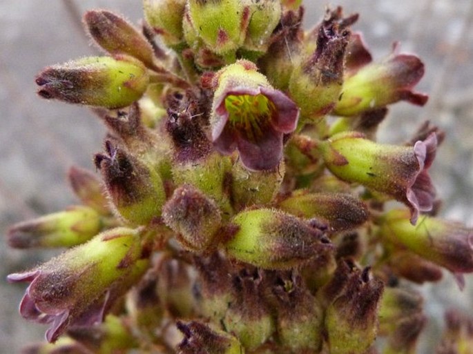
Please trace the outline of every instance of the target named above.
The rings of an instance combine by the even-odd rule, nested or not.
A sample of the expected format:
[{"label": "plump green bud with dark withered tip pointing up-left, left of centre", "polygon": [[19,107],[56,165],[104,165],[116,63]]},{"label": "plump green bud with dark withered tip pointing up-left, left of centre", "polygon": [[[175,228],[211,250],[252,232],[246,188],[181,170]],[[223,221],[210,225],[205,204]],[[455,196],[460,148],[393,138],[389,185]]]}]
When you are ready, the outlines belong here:
[{"label": "plump green bud with dark withered tip pointing up-left, left of centre", "polygon": [[110,141],[106,142],[106,150],[107,155],[95,156],[95,164],[104,176],[117,213],[135,225],[160,217],[166,196],[157,171]]}]

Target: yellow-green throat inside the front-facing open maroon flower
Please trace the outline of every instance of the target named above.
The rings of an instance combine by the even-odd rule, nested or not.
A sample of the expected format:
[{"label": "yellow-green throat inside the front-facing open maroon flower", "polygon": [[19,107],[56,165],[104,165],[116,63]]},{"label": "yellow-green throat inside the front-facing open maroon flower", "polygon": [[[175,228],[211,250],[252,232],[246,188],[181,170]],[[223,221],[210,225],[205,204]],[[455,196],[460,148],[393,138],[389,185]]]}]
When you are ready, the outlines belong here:
[{"label": "yellow-green throat inside the front-facing open maroon flower", "polygon": [[264,129],[271,124],[276,107],[266,96],[228,95],[225,108],[229,112],[229,123],[252,142],[264,135]]}]

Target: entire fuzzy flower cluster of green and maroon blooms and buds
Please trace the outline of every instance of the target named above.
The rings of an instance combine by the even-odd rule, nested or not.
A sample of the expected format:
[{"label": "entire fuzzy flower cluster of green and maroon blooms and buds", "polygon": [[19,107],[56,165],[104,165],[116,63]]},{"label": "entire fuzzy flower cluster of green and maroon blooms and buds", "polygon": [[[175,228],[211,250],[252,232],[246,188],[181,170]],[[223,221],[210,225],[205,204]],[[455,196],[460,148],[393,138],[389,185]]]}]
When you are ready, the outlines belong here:
[{"label": "entire fuzzy flower cluster of green and maroon blooms and buds", "polygon": [[[107,55],[36,78],[108,135],[98,174],[70,170],[81,205],[8,233],[68,248],[8,276],[48,325],[26,353],[415,353],[426,317],[406,284],[473,272],[473,230],[435,216],[443,132],[376,141],[387,106],[427,101],[421,59],[373,61],[342,8],[305,31],[300,1],[143,7],[141,29],[87,12]],[[438,353],[470,353],[472,320],[446,318]]]}]

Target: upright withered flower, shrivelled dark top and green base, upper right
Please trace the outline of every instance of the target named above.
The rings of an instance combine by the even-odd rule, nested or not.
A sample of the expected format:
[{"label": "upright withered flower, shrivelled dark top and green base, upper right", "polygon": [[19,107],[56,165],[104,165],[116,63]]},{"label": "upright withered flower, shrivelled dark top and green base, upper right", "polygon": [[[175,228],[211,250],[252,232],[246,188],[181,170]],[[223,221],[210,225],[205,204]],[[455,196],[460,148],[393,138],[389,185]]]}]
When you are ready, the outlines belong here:
[{"label": "upright withered flower, shrivelled dark top and green base, upper right", "polygon": [[318,28],[317,47],[302,56],[289,81],[291,97],[305,121],[329,113],[336,105],[343,82],[343,62],[350,31],[343,25],[341,12],[329,12]]}]

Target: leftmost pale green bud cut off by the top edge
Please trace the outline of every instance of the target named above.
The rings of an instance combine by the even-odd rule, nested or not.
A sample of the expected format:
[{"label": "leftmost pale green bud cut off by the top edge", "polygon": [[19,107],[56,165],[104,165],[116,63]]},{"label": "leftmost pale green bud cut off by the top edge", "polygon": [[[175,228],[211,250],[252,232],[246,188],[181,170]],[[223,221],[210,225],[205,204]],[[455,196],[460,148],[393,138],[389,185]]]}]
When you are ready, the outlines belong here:
[{"label": "leftmost pale green bud cut off by the top edge", "polygon": [[166,46],[175,48],[184,41],[182,19],[185,6],[186,0],[143,0],[144,18]]}]

